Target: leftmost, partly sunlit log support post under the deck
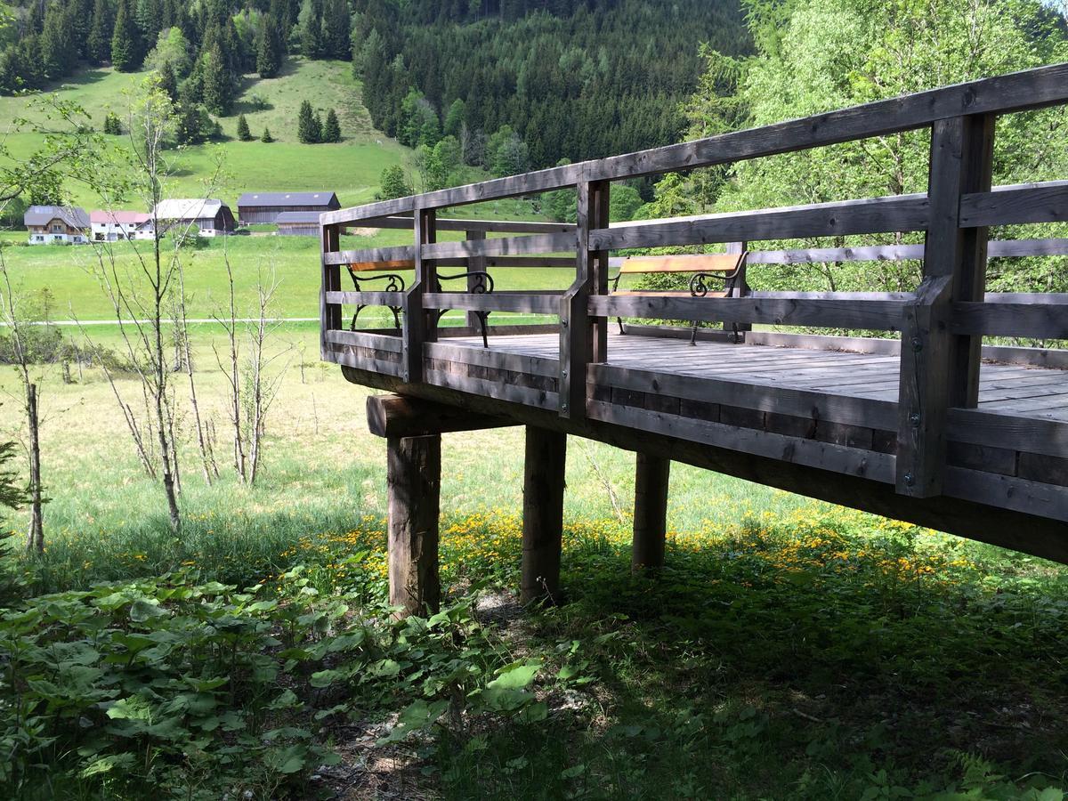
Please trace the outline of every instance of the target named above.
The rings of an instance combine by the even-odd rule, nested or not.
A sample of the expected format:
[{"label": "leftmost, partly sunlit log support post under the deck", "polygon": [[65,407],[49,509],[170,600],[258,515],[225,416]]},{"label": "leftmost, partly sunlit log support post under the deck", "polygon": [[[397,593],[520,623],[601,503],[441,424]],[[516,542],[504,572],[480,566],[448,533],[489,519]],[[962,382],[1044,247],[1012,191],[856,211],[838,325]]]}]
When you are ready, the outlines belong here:
[{"label": "leftmost, partly sunlit log support post under the deck", "polygon": [[387,439],[390,606],[397,616],[438,611],[441,435]]}]

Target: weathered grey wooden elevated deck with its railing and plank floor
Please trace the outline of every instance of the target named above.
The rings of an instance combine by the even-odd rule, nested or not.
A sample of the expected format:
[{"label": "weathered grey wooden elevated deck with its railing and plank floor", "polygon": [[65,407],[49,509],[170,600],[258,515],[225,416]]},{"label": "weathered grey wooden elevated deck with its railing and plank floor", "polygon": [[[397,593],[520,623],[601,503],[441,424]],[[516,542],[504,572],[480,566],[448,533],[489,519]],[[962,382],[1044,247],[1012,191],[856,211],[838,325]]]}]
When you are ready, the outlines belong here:
[{"label": "weathered grey wooden elevated deck with its railing and plank floor", "polygon": [[[1068,351],[1004,344],[1007,337],[1068,340],[1068,294],[988,293],[986,286],[990,256],[1068,253],[1063,238],[990,239],[999,225],[1068,221],[1068,180],[991,185],[996,119],[1065,104],[1068,64],[1059,64],[325,214],[323,358],[341,364],[352,381],[431,403],[420,413],[447,421],[440,430],[464,427],[456,414],[462,410],[471,418],[466,427],[524,424],[547,436],[572,434],[638,451],[645,499],[639,505],[650,512],[635,520],[635,536],[662,536],[648,515],[659,514],[664,465],[676,459],[1068,562]],[[613,180],[915,129],[930,135],[926,192],[608,219]],[[561,189],[575,191],[574,225],[444,216],[452,207]],[[343,250],[348,227],[408,227],[412,244]],[[466,232],[466,239],[439,241],[439,231]],[[914,241],[855,240],[882,235],[886,241],[891,234]],[[820,239],[833,247],[757,247]],[[721,245],[748,254],[751,267],[917,260],[922,280],[897,293],[751,292],[744,279],[707,296],[700,283],[689,293],[610,290],[613,254]],[[347,265],[411,271],[395,285],[400,289],[352,292],[343,288]],[[466,290],[439,280],[446,267],[464,268]],[[533,267],[557,268],[557,276],[566,267],[571,276],[554,289],[487,290],[489,270],[500,277]],[[398,310],[403,325],[346,329],[352,308],[375,304]],[[444,310],[465,312],[468,327],[440,328]],[[486,312],[494,319],[546,315],[552,323],[491,328],[484,346],[475,324]],[[626,335],[610,333],[616,317],[643,325]],[[701,329],[691,345],[688,330],[664,320],[725,330]],[[881,331],[889,339],[799,328]],[[393,434],[389,414],[377,413],[384,415],[383,436],[435,434],[430,423],[411,425],[412,409],[402,415],[407,427],[397,423]],[[547,464],[559,462],[559,441],[528,442]],[[530,484],[536,483],[530,470],[528,481],[532,497],[555,498]],[[555,524],[552,515],[539,519],[543,529]],[[656,553],[648,543],[639,545],[635,560],[639,550]]]}]

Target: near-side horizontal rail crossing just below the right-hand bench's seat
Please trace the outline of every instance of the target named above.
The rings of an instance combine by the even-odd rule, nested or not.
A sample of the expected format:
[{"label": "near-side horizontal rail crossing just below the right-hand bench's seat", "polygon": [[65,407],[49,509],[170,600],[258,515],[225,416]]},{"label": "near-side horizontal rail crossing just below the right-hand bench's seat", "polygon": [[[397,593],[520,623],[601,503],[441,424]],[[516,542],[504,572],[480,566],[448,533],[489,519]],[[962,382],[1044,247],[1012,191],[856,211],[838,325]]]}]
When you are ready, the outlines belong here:
[{"label": "near-side horizontal rail crossing just below the right-hand bench's seat", "polygon": [[895,331],[901,327],[905,301],[805,300],[763,298],[679,298],[657,295],[594,296],[590,314],[724,323],[772,323]]}]

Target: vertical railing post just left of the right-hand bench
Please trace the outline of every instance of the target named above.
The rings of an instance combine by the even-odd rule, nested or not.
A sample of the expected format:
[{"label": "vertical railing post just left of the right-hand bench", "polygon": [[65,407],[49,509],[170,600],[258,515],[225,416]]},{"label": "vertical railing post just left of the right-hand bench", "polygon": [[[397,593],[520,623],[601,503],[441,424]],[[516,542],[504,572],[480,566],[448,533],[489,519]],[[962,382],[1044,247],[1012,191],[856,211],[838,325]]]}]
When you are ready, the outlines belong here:
[{"label": "vertical railing post just left of the right-hand bench", "polygon": [[560,308],[560,415],[572,420],[586,413],[586,365],[608,358],[606,320],[590,316],[590,295],[608,290],[608,254],[590,250],[590,232],[608,227],[609,184],[580,180],[577,194],[575,283]]}]

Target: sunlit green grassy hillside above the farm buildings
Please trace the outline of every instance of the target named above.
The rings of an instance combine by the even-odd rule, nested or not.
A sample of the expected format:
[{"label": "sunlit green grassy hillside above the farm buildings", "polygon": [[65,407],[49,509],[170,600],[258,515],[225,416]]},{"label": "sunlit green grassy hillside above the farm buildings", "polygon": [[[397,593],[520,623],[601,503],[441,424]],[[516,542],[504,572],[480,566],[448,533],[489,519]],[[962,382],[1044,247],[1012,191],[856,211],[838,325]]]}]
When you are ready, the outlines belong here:
[{"label": "sunlit green grassy hillside above the farm buildings", "polygon": [[[115,73],[110,68],[88,69],[67,79],[57,91],[65,100],[77,103],[100,129],[108,111],[121,119],[128,108],[127,97],[136,92],[146,72]],[[301,144],[297,141],[297,111],[311,99],[325,112],[334,108],[341,119],[343,141],[339,144]],[[237,140],[237,114],[244,113],[254,136],[269,127],[276,142]],[[25,117],[46,124],[30,99],[0,97],[0,121],[12,155],[25,157],[38,146],[35,134],[15,132],[14,121]],[[220,120],[227,139],[223,142],[191,146],[175,152],[174,174],[168,193],[172,197],[198,195],[201,180],[210,173],[215,155],[221,150],[229,178],[218,192],[222,200],[235,203],[244,191],[282,189],[332,189],[344,205],[372,200],[382,169],[407,164],[411,152],[394,140],[375,131],[361,101],[361,87],[344,62],[289,59],[278,78],[262,80],[248,76],[232,116]],[[108,137],[124,144],[123,137]],[[87,208],[99,201],[84,185],[69,186],[76,203]],[[236,209],[235,209],[236,211]]]}]

